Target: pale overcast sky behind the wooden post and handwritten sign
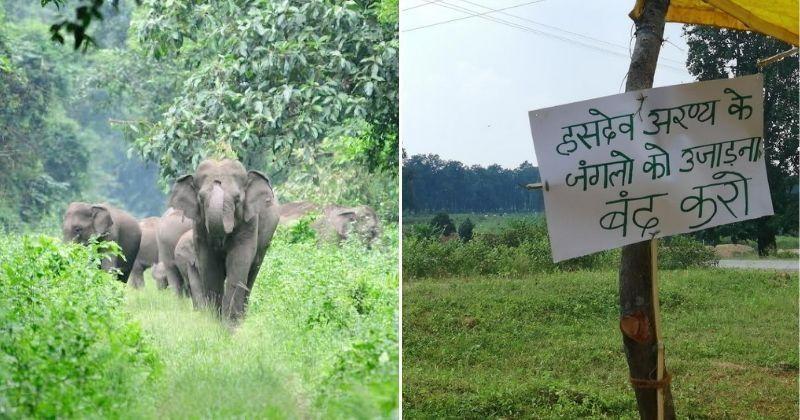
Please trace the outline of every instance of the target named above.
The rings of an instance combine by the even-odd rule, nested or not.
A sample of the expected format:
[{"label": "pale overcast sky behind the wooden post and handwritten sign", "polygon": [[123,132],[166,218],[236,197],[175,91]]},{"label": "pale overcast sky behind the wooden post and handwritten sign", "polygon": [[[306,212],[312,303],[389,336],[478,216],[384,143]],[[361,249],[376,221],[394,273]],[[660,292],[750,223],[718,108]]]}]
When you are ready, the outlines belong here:
[{"label": "pale overcast sky behind the wooden post and handwritten sign", "polygon": [[[634,3],[400,0],[400,133],[406,152],[466,164],[536,164],[528,111],[624,91]],[[463,19],[470,16],[466,10],[490,12],[481,6],[508,8],[483,15],[503,22]],[[665,38],[675,45],[661,49],[655,86],[693,81],[685,70],[681,33],[682,25],[667,24]]]}]

